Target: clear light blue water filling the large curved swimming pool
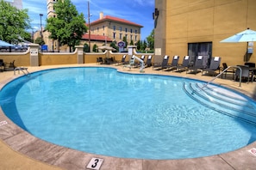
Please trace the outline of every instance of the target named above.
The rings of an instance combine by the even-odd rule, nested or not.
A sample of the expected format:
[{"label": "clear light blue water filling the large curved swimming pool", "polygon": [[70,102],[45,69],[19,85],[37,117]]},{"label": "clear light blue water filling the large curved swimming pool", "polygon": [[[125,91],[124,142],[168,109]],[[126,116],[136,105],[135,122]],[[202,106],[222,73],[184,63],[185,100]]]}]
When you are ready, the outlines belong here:
[{"label": "clear light blue water filling the large curved swimming pool", "polygon": [[[66,68],[22,76],[3,87],[0,97],[3,112],[34,137],[99,155],[184,159],[256,140],[255,124],[193,100],[184,92],[190,83],[204,82]],[[256,108],[253,100],[230,93]]]}]

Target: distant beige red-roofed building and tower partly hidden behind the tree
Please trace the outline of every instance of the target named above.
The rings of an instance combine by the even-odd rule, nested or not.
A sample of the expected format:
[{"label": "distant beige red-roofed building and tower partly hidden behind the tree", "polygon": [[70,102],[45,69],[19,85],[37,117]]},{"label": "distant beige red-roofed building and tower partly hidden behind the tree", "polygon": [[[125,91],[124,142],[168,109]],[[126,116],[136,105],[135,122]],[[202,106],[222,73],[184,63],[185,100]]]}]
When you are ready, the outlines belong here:
[{"label": "distant beige red-roofed building and tower partly hidden behind the tree", "polygon": [[[47,0],[47,18],[56,17],[54,13],[53,5],[57,3],[58,0]],[[87,24],[87,27],[89,25]],[[84,43],[89,44],[89,39],[91,41],[91,49],[94,45],[104,46],[105,44],[110,44],[112,41],[122,41],[123,37],[126,37],[128,43],[131,41],[134,44],[140,40],[140,28],[143,27],[140,24],[136,24],[132,21],[127,21],[121,18],[103,15],[103,12],[100,13],[100,17],[97,21],[92,21],[90,23],[91,27],[91,36],[89,32],[85,33],[81,45]],[[36,39],[40,33],[34,33],[34,39]],[[58,42],[53,39],[49,39],[50,33],[43,31],[43,39],[48,46],[49,51],[58,49]],[[61,51],[68,51],[69,48],[66,46],[61,46]]]}]

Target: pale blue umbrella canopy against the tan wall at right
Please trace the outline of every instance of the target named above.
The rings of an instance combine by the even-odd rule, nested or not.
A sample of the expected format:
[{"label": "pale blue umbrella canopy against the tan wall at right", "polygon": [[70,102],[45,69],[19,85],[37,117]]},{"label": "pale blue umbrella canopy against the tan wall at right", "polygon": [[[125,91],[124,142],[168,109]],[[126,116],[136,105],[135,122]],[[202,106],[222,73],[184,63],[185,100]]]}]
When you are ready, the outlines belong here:
[{"label": "pale blue umbrella canopy against the tan wall at right", "polygon": [[256,41],[256,31],[253,31],[252,29],[247,28],[247,30],[242,31],[240,33],[236,33],[231,37],[228,37],[227,39],[223,39],[221,42],[252,42]]}]

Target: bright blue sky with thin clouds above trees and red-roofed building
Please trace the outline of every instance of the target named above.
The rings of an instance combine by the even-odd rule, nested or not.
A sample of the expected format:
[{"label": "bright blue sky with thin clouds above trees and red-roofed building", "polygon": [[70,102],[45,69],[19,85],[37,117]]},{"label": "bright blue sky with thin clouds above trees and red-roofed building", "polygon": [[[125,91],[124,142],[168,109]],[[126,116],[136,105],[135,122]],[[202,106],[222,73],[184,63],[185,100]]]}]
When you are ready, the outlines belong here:
[{"label": "bright blue sky with thin clouds above trees and red-roofed building", "polygon": [[[88,0],[72,0],[79,13],[83,13],[85,20],[88,17]],[[34,31],[44,27],[47,19],[47,0],[23,0],[23,9],[28,9],[31,25]],[[143,26],[141,28],[141,39],[144,40],[153,30],[152,13],[154,10],[154,0],[91,0],[90,1],[90,21],[99,19],[100,12],[104,15],[111,15],[128,21],[133,21]],[[40,18],[40,14],[43,14]],[[32,30],[31,30],[32,31]]]}]

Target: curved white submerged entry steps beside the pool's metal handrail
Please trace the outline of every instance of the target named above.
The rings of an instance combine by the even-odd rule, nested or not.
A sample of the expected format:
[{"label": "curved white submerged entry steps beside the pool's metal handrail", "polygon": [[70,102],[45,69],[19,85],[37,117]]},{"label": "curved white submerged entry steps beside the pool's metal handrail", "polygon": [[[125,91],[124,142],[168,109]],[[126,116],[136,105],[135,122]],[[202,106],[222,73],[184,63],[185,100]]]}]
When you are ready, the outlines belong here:
[{"label": "curved white submerged entry steps beside the pool's metal handrail", "polygon": [[256,125],[256,105],[252,100],[226,88],[212,84],[203,88],[203,85],[198,82],[184,83],[184,91],[203,106]]}]

